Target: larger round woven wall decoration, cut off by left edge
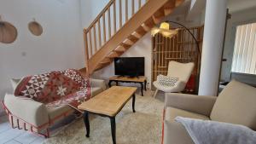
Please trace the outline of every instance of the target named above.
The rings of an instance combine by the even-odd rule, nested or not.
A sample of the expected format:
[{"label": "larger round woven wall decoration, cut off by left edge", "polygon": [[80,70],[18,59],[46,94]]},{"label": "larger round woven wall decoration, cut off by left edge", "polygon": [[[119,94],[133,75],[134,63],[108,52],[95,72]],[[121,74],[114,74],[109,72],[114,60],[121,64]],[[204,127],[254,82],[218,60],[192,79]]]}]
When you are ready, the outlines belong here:
[{"label": "larger round woven wall decoration, cut off by left edge", "polygon": [[17,38],[18,32],[15,26],[7,21],[0,20],[0,42],[13,43]]}]

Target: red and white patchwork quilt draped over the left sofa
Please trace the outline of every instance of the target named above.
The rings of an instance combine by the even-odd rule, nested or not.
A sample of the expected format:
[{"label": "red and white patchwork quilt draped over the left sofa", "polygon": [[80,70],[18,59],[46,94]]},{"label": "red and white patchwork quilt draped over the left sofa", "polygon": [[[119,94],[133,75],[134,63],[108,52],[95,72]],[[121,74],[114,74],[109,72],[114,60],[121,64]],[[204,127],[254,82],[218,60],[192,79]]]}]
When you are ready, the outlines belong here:
[{"label": "red and white patchwork quilt draped over the left sofa", "polygon": [[29,97],[44,104],[64,101],[70,98],[70,95],[73,95],[72,100],[77,100],[76,96],[81,98],[81,95],[76,95],[79,90],[83,89],[84,93],[87,93],[88,89],[84,88],[90,86],[88,80],[89,78],[83,78],[81,73],[74,69],[33,75],[21,79],[15,88],[15,95]]}]

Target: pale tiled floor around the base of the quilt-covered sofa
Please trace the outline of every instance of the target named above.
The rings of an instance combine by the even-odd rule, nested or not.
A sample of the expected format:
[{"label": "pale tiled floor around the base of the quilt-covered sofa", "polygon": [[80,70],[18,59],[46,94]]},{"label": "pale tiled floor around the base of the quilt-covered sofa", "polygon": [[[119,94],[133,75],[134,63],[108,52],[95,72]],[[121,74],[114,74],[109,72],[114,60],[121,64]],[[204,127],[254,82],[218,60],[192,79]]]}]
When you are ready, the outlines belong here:
[{"label": "pale tiled floor around the base of the quilt-covered sofa", "polygon": [[[50,129],[50,134],[55,135],[63,125],[70,124],[74,117],[66,118],[61,123]],[[6,116],[0,117],[0,144],[41,144],[45,140],[44,136],[33,134],[32,132],[12,129]]]}]

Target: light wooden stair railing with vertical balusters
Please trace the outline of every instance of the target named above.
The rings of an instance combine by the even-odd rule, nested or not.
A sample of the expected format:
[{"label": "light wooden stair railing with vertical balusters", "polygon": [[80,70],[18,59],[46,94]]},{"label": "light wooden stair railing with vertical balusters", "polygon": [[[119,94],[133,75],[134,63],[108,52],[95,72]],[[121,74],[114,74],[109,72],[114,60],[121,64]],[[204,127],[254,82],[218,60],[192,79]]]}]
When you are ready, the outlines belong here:
[{"label": "light wooden stair railing with vertical balusters", "polygon": [[[96,19],[84,28],[85,61],[96,54],[148,0],[111,0]],[[88,66],[88,65],[87,65]]]}]

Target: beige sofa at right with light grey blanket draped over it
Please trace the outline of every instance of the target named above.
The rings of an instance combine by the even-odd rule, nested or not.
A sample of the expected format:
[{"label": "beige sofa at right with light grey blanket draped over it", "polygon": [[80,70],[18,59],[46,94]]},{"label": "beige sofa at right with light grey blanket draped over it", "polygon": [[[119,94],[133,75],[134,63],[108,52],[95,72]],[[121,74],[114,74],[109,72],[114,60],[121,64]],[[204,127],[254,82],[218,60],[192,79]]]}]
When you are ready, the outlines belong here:
[{"label": "beige sofa at right with light grey blanket draped over it", "polygon": [[166,94],[164,144],[193,144],[177,116],[242,124],[256,130],[256,88],[235,80],[216,96]]}]

